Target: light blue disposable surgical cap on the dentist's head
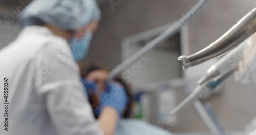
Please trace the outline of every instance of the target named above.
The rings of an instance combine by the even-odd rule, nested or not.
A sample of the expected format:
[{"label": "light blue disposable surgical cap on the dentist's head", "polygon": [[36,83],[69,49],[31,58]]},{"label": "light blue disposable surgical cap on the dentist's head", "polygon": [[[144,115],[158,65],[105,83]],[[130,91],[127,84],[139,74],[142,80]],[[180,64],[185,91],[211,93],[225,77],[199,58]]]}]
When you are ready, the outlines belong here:
[{"label": "light blue disposable surgical cap on the dentist's head", "polygon": [[22,28],[50,24],[62,30],[79,30],[90,21],[99,21],[95,0],[34,0],[20,14]]}]

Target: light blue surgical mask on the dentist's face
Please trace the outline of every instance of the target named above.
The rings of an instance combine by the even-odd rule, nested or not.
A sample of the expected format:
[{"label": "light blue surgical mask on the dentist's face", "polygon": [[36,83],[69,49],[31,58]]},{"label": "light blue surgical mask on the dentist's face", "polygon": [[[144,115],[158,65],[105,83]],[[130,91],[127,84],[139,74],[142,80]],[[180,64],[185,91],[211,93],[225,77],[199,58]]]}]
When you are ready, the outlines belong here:
[{"label": "light blue surgical mask on the dentist's face", "polygon": [[76,61],[82,60],[87,55],[92,37],[91,31],[87,31],[81,40],[77,39],[75,35],[70,38],[70,49]]}]

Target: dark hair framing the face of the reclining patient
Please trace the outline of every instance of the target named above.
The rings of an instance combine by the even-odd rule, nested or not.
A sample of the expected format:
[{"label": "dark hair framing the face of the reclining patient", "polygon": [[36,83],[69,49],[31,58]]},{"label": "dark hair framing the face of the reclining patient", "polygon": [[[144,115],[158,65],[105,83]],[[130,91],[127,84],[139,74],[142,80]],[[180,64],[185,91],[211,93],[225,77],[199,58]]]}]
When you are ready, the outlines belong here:
[{"label": "dark hair framing the face of the reclining patient", "polygon": [[[99,63],[83,63],[83,64],[79,63],[79,67],[81,70],[81,77],[86,77],[90,72],[96,71],[96,70],[106,70],[108,72],[110,71],[108,68],[106,68],[105,66]],[[114,80],[123,85],[123,87],[125,88],[126,94],[129,97],[129,103],[123,114],[124,118],[129,118],[131,117],[131,114],[132,114],[132,104],[133,104],[133,95],[131,92],[132,91],[131,86],[122,79],[121,75],[118,75],[117,77],[115,77]]]}]

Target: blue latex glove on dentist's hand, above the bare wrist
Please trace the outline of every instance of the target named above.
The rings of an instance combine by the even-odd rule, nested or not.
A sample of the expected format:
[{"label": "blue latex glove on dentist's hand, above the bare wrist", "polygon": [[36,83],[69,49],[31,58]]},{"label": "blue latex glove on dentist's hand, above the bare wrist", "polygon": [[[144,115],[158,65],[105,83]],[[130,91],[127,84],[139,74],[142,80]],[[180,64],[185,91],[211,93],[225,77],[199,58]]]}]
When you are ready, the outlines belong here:
[{"label": "blue latex glove on dentist's hand, above the bare wrist", "polygon": [[124,87],[119,83],[111,82],[107,84],[105,91],[100,94],[100,105],[96,108],[96,115],[99,116],[104,107],[111,106],[121,117],[128,102],[129,97]]}]

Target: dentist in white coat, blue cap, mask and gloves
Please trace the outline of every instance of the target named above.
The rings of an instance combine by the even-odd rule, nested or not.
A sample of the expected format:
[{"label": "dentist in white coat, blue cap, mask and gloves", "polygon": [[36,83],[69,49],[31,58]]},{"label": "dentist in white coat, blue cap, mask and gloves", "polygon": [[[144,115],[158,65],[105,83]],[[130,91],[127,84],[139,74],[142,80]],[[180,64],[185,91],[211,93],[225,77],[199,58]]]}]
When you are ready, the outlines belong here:
[{"label": "dentist in white coat, blue cap, mask and gloves", "polygon": [[94,0],[34,0],[24,9],[22,31],[0,50],[0,134],[115,133],[129,101],[124,88],[107,84],[96,120],[77,65],[100,15]]}]

